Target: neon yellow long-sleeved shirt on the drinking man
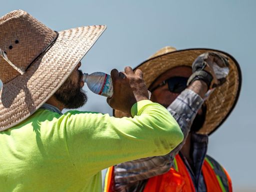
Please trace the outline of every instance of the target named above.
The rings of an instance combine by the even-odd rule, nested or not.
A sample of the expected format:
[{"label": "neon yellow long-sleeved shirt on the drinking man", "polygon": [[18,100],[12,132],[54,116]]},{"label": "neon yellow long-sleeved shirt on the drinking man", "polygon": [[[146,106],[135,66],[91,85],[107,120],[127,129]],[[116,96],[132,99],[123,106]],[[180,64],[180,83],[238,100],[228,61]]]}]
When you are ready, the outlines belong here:
[{"label": "neon yellow long-sleeved shirt on the drinking man", "polygon": [[163,106],[141,100],[131,113],[38,109],[0,132],[0,191],[101,191],[101,169],[166,154],[182,141]]}]

